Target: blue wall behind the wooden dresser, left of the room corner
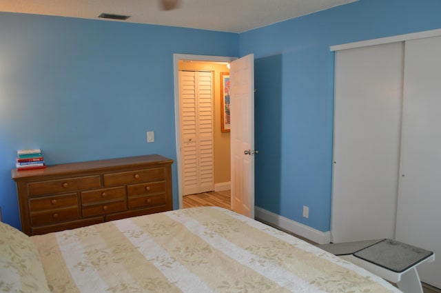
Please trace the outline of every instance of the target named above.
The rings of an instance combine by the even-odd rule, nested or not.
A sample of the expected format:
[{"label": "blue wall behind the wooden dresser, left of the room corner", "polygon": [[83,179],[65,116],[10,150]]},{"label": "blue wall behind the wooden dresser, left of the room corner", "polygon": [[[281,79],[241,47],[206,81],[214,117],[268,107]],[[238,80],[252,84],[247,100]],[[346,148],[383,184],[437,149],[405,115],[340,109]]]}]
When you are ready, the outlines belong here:
[{"label": "blue wall behind the wooden dresser, left of the room corner", "polygon": [[[12,13],[0,28],[0,206],[15,227],[16,150],[41,148],[49,165],[176,160],[173,54],[238,56],[224,32]],[[176,163],[172,176],[177,208]]]}]

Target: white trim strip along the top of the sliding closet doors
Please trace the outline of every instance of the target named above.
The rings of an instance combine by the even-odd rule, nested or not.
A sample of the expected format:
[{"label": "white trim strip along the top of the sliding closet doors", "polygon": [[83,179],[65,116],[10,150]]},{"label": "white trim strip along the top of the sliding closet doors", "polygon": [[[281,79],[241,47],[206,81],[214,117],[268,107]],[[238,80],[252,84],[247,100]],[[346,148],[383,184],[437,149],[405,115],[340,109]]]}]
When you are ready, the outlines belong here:
[{"label": "white trim strip along the top of the sliding closet doors", "polygon": [[409,41],[409,40],[424,39],[424,38],[438,37],[438,36],[441,36],[441,29],[426,30],[424,32],[413,32],[411,34],[399,34],[398,36],[385,37],[380,39],[371,39],[367,41],[358,41],[354,43],[344,43],[342,45],[331,46],[331,51],[382,45],[384,43],[395,43],[399,41]]}]

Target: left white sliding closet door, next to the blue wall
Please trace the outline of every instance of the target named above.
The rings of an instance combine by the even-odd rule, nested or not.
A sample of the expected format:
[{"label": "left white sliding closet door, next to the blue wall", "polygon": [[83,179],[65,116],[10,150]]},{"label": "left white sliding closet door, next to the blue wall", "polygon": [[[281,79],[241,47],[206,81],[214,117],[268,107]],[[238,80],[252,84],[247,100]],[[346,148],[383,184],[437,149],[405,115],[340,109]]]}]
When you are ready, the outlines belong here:
[{"label": "left white sliding closet door, next to the blue wall", "polygon": [[394,236],[403,46],[336,52],[333,242]]}]

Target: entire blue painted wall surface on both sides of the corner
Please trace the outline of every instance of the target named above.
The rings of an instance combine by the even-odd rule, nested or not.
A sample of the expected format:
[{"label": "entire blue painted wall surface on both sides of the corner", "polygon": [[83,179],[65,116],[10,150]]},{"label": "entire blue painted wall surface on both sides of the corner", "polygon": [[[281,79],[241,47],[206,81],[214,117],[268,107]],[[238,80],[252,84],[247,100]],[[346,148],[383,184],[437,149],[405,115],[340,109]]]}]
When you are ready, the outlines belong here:
[{"label": "entire blue painted wall surface on both sides of the corner", "polygon": [[[242,34],[0,13],[0,205],[19,227],[15,151],[48,164],[176,159],[172,54],[256,58],[256,205],[329,230],[329,46],[441,28],[440,0],[360,0]],[[155,143],[145,132],[155,131]],[[176,164],[173,169],[177,207]],[[309,206],[309,219],[302,206]]]}]

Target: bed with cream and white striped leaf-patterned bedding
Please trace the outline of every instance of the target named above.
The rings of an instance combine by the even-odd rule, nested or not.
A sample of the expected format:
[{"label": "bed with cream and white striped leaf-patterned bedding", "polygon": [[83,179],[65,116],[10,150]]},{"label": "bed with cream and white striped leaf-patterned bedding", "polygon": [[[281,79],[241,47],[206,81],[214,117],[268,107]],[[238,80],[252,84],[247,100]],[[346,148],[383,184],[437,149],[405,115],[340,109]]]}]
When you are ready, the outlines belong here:
[{"label": "bed with cream and white striped leaf-patterned bedding", "polygon": [[27,236],[0,224],[0,292],[400,292],[230,210],[189,208]]}]

